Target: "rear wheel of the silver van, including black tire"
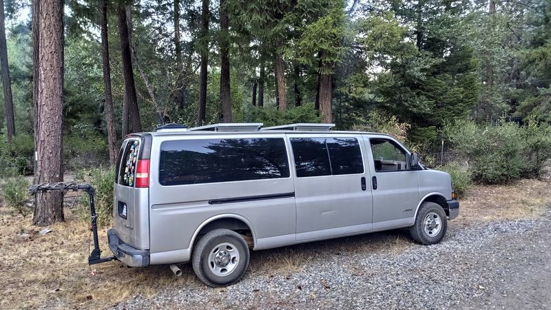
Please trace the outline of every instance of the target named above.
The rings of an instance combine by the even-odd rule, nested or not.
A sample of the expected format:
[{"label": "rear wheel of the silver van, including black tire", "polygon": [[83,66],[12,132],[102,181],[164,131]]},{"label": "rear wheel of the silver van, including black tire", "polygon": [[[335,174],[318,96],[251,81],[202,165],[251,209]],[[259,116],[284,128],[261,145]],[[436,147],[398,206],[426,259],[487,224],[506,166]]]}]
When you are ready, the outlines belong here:
[{"label": "rear wheel of the silver van, including black tire", "polygon": [[[216,259],[218,254],[220,254],[220,260]],[[214,229],[197,242],[191,257],[191,265],[197,278],[210,287],[232,285],[238,282],[247,271],[249,247],[245,239],[235,231]]]}]

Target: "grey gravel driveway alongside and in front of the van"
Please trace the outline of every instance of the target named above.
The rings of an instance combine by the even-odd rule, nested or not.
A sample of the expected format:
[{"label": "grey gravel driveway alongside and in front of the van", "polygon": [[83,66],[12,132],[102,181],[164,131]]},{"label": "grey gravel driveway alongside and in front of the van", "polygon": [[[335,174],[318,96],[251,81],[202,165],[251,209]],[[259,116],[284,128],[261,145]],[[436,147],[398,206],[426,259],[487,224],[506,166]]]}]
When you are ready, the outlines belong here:
[{"label": "grey gravel driveway alongside and in front of the van", "polygon": [[[221,289],[191,281],[187,287],[171,287],[154,298],[138,297],[117,307],[548,309],[550,225],[550,210],[538,220],[459,218],[439,245],[416,245],[406,231],[389,231],[251,252],[252,266],[286,251],[308,258],[300,271],[249,270],[236,285]],[[183,268],[191,272],[190,265]]]}]

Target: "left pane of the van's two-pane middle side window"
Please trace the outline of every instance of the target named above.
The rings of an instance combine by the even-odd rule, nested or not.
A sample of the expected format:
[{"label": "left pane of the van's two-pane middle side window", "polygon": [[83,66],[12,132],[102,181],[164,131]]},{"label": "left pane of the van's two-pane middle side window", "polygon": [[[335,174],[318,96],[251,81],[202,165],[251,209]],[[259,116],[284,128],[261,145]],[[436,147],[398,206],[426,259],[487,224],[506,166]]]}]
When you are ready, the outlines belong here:
[{"label": "left pane of the van's two-pane middle side window", "polygon": [[326,138],[291,138],[297,176],[331,176]]}]

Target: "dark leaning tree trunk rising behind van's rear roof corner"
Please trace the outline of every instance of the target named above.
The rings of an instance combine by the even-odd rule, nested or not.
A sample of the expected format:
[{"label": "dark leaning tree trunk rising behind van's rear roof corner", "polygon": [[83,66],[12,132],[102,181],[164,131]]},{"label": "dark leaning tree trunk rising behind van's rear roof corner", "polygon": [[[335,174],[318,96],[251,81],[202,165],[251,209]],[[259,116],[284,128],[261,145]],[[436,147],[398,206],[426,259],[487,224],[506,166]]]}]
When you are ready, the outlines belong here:
[{"label": "dark leaning tree trunk rising behind van's rear roof corner", "polygon": [[128,132],[141,132],[142,122],[136,96],[134,72],[132,71],[132,52],[130,51],[130,34],[127,20],[127,9],[124,5],[118,6],[118,34],[121,37],[121,58],[123,62],[123,76],[125,80],[126,105],[128,108]]}]

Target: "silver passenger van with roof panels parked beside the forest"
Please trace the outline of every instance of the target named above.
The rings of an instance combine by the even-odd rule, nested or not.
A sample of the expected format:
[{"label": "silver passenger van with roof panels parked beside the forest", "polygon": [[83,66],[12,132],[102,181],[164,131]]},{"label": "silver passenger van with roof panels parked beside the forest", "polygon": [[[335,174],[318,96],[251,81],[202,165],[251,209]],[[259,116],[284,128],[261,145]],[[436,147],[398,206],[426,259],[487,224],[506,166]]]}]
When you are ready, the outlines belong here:
[{"label": "silver passenger van with roof panels parked beside the forest", "polygon": [[[212,287],[249,249],[409,227],[439,242],[459,214],[451,177],[391,136],[261,123],[131,134],[118,156],[111,251],[128,266],[190,262]],[[180,271],[181,273],[181,271]]]}]

